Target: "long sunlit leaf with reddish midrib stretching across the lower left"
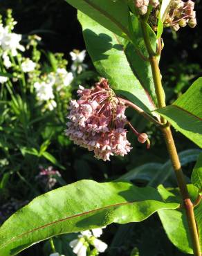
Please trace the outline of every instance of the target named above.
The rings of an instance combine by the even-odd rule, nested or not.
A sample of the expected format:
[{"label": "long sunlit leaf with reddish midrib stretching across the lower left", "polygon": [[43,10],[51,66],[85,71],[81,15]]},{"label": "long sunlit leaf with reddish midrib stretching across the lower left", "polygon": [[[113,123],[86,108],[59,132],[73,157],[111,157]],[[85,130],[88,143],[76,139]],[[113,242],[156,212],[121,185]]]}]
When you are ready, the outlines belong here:
[{"label": "long sunlit leaf with reddish midrib stretching across the lower left", "polygon": [[16,255],[55,235],[110,223],[143,221],[160,209],[176,209],[154,188],[128,182],[78,181],[37,197],[0,228],[0,255]]}]

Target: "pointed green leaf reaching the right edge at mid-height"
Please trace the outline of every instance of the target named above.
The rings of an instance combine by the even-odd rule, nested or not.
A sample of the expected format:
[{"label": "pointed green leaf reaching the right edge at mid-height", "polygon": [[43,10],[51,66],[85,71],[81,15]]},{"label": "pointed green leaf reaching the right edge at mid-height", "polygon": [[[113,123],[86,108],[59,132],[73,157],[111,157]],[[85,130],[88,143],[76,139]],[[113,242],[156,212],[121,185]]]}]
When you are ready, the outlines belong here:
[{"label": "pointed green leaf reaching the right edge at mid-height", "polygon": [[171,125],[202,147],[202,77],[172,105],[157,109]]}]

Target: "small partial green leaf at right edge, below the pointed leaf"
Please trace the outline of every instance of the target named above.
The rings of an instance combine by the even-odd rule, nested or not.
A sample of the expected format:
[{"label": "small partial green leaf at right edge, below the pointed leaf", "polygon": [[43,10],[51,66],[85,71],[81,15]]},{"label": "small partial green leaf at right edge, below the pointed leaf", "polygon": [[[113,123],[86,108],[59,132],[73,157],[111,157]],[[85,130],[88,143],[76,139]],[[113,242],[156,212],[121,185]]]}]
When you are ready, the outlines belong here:
[{"label": "small partial green leaf at right edge, below the pointed leaf", "polygon": [[202,154],[200,154],[192,172],[192,183],[202,192]]}]

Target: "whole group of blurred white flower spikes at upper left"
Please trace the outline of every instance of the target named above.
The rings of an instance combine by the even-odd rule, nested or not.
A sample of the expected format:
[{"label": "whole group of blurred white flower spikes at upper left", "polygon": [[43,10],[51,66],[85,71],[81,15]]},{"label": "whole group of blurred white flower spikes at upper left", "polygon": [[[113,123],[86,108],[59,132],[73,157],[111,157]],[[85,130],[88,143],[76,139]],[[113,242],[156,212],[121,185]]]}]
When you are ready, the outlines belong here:
[{"label": "whole group of blurred white flower spikes at upper left", "polygon": [[[12,10],[7,11],[5,23],[0,16],[0,61],[3,63],[1,71],[5,73],[5,75],[0,75],[0,84],[8,82],[10,80],[8,73],[12,73],[10,82],[21,82],[20,84],[24,84],[25,91],[30,87],[32,93],[35,91],[39,105],[43,106],[42,111],[46,109],[52,111],[57,107],[56,95],[61,97],[68,95],[70,90],[66,90],[66,87],[73,82],[77,74],[87,67],[83,64],[86,50],[71,51],[71,71],[66,70],[67,62],[62,54],[53,54],[53,59],[55,59],[54,67],[51,68],[53,71],[49,65],[46,65],[44,72],[41,68],[42,64],[39,62],[42,53],[37,49],[41,38],[32,35],[28,37],[29,42],[26,47],[22,46],[22,35],[13,32],[15,24],[17,22],[12,17]],[[21,52],[24,52],[25,49],[32,49],[31,58],[22,55]],[[52,64],[51,60],[49,61]]]}]

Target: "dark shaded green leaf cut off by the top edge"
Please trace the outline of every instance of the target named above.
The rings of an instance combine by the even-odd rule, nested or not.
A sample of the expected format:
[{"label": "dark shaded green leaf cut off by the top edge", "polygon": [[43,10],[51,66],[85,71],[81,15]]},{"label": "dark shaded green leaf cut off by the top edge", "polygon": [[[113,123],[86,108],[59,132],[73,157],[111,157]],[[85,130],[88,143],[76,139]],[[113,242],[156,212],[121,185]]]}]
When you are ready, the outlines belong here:
[{"label": "dark shaded green leaf cut off by the top edge", "polygon": [[130,38],[129,8],[122,0],[66,0],[73,7],[121,37]]}]

